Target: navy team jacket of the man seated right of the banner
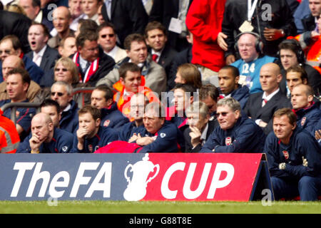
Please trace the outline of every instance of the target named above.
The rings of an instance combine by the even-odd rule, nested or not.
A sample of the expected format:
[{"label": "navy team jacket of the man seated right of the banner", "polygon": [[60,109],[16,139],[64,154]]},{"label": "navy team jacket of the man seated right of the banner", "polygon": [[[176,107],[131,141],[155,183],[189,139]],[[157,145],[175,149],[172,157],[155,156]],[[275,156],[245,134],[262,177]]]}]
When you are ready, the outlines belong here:
[{"label": "navy team jacket of the man seated right of the banner", "polygon": [[[306,130],[295,128],[288,145],[283,144],[271,132],[267,135],[264,152],[270,175],[286,180],[298,180],[302,176],[320,175],[321,147]],[[302,157],[307,159],[308,166],[302,165]],[[285,162],[285,170],[279,169],[279,164]]]}]

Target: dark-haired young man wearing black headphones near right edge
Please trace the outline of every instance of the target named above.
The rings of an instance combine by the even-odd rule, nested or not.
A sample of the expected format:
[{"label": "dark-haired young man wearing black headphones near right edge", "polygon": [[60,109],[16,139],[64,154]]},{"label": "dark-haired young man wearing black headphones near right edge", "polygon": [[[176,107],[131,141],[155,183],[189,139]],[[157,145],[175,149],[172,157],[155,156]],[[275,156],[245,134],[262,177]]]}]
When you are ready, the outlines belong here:
[{"label": "dark-haired young man wearing black headphones near right edge", "polygon": [[319,96],[321,93],[321,77],[319,71],[312,66],[305,63],[305,54],[300,46],[300,43],[295,39],[287,39],[282,41],[279,45],[280,60],[282,63],[282,81],[280,83],[280,90],[283,94],[289,93],[286,86],[286,71],[291,66],[302,66],[307,72],[307,81],[315,91],[315,95]]}]

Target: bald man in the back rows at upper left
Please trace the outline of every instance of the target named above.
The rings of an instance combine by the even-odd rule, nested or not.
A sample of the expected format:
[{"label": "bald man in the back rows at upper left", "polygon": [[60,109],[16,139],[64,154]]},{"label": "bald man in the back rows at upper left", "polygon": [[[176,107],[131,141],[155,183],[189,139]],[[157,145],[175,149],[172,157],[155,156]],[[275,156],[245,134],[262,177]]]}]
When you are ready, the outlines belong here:
[{"label": "bald man in the back rows at upper left", "polygon": [[53,24],[54,28],[56,28],[57,35],[50,38],[48,41],[48,45],[51,48],[58,48],[61,39],[66,38],[68,36],[74,36],[73,31],[69,28],[71,24],[71,14],[66,6],[57,7],[53,14]]}]

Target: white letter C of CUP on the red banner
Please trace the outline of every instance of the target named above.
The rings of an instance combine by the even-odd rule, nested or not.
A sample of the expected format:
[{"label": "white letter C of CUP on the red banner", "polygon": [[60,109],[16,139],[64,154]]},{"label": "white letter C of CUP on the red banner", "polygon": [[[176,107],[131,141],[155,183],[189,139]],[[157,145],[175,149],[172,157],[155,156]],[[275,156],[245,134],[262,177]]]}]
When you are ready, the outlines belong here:
[{"label": "white letter C of CUP on the red banner", "polygon": [[177,195],[177,190],[172,191],[168,188],[168,182],[170,177],[173,175],[174,172],[180,170],[183,171],[185,168],[185,162],[176,162],[175,164],[171,165],[168,170],[165,172],[163,177],[162,185],[161,185],[161,192],[163,197],[166,199],[175,199]]}]

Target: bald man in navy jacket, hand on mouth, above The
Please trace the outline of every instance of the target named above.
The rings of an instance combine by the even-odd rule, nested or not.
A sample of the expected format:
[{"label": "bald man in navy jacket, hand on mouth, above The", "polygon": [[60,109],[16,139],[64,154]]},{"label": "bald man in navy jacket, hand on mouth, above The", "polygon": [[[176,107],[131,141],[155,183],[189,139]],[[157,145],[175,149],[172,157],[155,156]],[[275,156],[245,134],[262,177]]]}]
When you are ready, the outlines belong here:
[{"label": "bald man in navy jacket, hand on mouth, above The", "polygon": [[38,113],[31,120],[31,134],[21,142],[21,153],[66,153],[73,145],[73,134],[54,127],[54,122],[46,113]]}]

